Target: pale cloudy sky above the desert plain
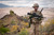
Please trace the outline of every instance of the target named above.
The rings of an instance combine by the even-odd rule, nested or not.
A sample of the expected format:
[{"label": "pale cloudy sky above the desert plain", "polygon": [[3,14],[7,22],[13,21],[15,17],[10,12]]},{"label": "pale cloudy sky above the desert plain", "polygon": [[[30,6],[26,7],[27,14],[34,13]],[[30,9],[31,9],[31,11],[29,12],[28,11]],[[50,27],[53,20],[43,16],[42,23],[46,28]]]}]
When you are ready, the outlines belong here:
[{"label": "pale cloudy sky above the desert plain", "polygon": [[0,3],[13,7],[31,7],[35,3],[38,3],[40,7],[54,7],[54,0],[0,0]]}]

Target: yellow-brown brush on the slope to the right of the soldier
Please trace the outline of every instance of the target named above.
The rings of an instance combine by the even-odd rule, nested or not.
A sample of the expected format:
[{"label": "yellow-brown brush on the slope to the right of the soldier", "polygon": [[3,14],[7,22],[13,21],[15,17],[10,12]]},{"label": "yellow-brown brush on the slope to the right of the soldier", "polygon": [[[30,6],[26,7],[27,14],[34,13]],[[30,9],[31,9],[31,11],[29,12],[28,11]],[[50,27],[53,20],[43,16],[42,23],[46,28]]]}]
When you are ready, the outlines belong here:
[{"label": "yellow-brown brush on the slope to the right of the soldier", "polygon": [[44,25],[40,25],[40,33],[41,35],[43,35],[42,33],[48,35],[54,33],[54,18],[48,19]]}]

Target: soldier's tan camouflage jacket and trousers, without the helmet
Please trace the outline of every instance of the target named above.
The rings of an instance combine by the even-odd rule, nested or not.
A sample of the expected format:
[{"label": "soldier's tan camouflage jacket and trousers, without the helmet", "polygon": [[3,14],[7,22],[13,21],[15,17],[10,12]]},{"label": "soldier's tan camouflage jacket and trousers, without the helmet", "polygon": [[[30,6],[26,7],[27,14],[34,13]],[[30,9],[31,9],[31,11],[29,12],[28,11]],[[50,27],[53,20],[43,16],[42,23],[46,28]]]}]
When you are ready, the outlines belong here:
[{"label": "soldier's tan camouflage jacket and trousers, without the helmet", "polygon": [[[42,14],[40,13],[40,11],[37,11],[37,12],[31,11],[30,13],[31,13],[31,14],[32,14],[32,13],[36,13],[37,15],[42,16]],[[41,20],[37,20],[37,21],[38,21],[38,23],[36,23],[36,28],[37,28],[36,31],[39,31],[39,24],[40,24],[42,21],[41,21]],[[33,33],[33,29],[35,29],[35,24],[33,24],[33,23],[31,23],[30,29],[31,29],[31,30],[30,30],[30,31],[31,31],[30,34],[32,34],[32,33]]]}]

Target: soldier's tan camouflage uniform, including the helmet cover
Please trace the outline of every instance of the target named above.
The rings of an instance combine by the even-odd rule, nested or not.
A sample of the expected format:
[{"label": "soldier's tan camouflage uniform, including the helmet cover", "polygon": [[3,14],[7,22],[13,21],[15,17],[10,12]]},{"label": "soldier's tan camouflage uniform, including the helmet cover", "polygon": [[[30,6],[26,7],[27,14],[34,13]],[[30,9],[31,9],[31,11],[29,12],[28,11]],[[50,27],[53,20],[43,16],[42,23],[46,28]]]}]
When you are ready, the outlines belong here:
[{"label": "soldier's tan camouflage uniform, including the helmet cover", "polygon": [[[38,4],[33,4],[35,6],[38,6]],[[37,12],[35,12],[35,11],[31,11],[30,12],[30,14],[32,14],[32,13],[36,13],[37,15],[39,15],[39,16],[42,16],[42,13],[40,13],[40,11],[37,11]],[[30,17],[30,16],[29,16]],[[37,20],[37,19],[36,19]],[[39,32],[39,24],[42,22],[41,20],[37,20],[38,21],[38,23],[36,23],[36,31],[37,31],[37,33]],[[31,22],[30,22],[31,23]],[[31,27],[30,27],[30,35],[33,35],[33,29],[35,29],[35,24],[33,23],[31,23]],[[39,35],[39,33],[38,34],[36,34],[36,35]]]}]

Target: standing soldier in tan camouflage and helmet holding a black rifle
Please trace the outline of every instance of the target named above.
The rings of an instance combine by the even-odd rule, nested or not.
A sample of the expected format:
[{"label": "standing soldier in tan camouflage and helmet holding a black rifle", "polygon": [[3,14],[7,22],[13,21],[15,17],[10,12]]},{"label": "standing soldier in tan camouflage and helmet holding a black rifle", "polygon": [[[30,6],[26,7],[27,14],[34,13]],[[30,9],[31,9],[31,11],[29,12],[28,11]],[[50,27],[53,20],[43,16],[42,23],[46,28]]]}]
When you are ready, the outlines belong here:
[{"label": "standing soldier in tan camouflage and helmet holding a black rifle", "polygon": [[[31,11],[30,14],[33,14],[33,13],[35,13],[36,16],[38,16],[38,17],[39,17],[39,16],[43,17],[43,16],[42,16],[42,13],[41,13],[43,8],[42,8],[41,11],[38,11],[38,8],[39,8],[39,4],[38,4],[38,3],[35,3],[32,7],[33,7],[35,11]],[[33,16],[35,16],[35,15],[33,15]],[[29,17],[31,17],[31,16],[29,16]],[[40,18],[40,17],[39,17],[39,18]],[[30,28],[30,29],[32,30],[30,33],[32,34],[33,29],[35,29],[35,28],[33,28],[35,24],[32,23],[32,19],[31,19],[31,18],[29,18],[29,19],[30,19],[29,28],[30,28],[30,24],[31,24],[31,28]],[[39,21],[39,22],[37,23],[36,28],[39,27],[39,23],[41,23],[41,20],[42,20],[42,18],[37,19],[37,21]],[[37,28],[37,30],[38,30],[38,28]]]}]

